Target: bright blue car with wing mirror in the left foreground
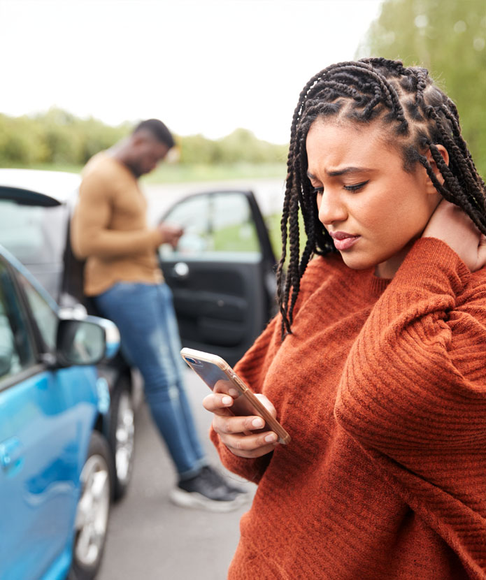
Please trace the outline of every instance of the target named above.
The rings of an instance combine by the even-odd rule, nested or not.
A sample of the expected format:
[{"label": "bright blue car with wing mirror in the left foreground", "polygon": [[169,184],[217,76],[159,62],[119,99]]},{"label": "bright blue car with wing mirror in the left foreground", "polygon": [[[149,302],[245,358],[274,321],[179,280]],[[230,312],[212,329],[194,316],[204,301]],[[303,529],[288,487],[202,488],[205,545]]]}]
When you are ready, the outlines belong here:
[{"label": "bright blue car with wing mirror in the left foreground", "polygon": [[110,404],[94,366],[113,323],[60,309],[0,247],[0,578],[95,577],[113,463]]}]

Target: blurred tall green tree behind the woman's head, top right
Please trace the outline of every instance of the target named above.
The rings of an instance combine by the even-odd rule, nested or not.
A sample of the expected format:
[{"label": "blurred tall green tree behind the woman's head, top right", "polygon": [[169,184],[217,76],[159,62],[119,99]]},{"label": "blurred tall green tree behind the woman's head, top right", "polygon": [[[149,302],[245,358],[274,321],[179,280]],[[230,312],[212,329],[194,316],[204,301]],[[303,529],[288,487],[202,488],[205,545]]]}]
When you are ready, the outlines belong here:
[{"label": "blurred tall green tree behind the woman's head, top right", "polygon": [[385,0],[357,58],[417,64],[455,101],[464,138],[486,174],[486,3],[484,0]]}]

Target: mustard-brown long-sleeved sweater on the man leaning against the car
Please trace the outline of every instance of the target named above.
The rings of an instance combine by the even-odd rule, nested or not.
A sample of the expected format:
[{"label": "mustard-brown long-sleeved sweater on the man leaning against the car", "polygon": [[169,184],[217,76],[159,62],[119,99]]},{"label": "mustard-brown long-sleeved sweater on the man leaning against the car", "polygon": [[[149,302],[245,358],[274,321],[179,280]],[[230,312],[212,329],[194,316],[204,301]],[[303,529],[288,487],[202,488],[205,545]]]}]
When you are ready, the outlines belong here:
[{"label": "mustard-brown long-sleeved sweater on the man leaning against the car", "polygon": [[136,177],[101,152],[83,170],[71,222],[71,245],[85,265],[85,293],[96,296],[116,282],[162,281],[155,251],[162,234],[149,229],[147,202]]}]

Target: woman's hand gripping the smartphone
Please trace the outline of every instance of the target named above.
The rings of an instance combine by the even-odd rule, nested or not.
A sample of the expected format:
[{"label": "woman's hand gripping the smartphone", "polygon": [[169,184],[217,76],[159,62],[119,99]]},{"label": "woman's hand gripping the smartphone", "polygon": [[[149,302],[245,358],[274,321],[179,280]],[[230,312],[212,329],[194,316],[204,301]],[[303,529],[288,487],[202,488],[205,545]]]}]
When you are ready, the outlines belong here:
[{"label": "woman's hand gripping the smartphone", "polygon": [[[236,393],[237,394],[237,393]],[[277,416],[275,407],[264,395],[256,395],[273,417]],[[210,393],[203,399],[203,407],[212,413],[213,429],[220,435],[226,447],[239,457],[255,458],[270,453],[278,445],[278,435],[273,431],[253,430],[262,429],[262,417],[235,416],[229,412],[234,398],[225,393]]]}]

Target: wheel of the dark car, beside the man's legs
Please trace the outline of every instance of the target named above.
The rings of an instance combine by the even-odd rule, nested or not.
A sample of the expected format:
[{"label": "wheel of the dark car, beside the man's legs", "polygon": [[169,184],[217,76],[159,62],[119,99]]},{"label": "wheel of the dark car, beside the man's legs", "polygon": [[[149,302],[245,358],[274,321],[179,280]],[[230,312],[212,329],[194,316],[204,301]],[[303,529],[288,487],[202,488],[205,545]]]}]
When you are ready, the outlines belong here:
[{"label": "wheel of the dark car, beside the man's legs", "polygon": [[120,500],[134,467],[135,411],[127,379],[122,378],[111,394],[110,444],[113,461],[113,500]]}]

